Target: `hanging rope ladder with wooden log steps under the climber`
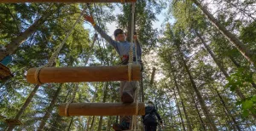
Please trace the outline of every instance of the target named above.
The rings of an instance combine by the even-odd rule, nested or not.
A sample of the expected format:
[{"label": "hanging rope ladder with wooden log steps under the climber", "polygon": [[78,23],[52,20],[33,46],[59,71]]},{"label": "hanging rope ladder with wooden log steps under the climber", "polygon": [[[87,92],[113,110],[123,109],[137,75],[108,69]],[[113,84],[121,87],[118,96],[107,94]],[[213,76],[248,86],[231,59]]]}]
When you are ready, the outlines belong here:
[{"label": "hanging rope ladder with wooden log steps under the climber", "polygon": [[[132,3],[132,21],[134,25],[134,11],[137,0],[2,0],[0,3]],[[84,12],[84,11],[83,11]],[[80,14],[79,19],[83,12]],[[78,20],[79,20],[78,19]],[[75,26],[75,25],[74,25]],[[73,29],[72,29],[73,30]],[[131,42],[133,42],[134,26],[131,28]],[[69,35],[67,35],[68,37]],[[80,83],[80,82],[109,82],[109,81],[139,81],[141,79],[141,66],[134,65],[131,57],[133,49],[131,43],[130,59],[128,65],[113,66],[79,66],[79,67],[52,67],[61,46],[55,51],[48,65],[32,68],[27,71],[26,79],[29,83]],[[135,44],[136,47],[136,44]],[[137,47],[136,47],[137,48]],[[136,55],[137,57],[137,55]],[[138,89],[137,89],[138,90]],[[137,99],[137,93],[136,93]],[[72,103],[59,106],[60,116],[131,116],[133,130],[137,130],[137,116],[145,114],[144,103],[138,100],[131,104],[123,103]]]}]

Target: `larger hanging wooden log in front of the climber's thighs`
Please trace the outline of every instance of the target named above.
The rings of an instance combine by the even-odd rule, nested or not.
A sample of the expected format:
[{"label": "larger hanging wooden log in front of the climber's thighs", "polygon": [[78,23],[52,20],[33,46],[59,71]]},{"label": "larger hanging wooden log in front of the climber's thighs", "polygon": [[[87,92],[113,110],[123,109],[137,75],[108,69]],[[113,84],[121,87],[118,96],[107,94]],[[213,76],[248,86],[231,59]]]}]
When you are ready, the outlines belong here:
[{"label": "larger hanging wooden log in front of the climber's thighs", "polygon": [[[28,83],[37,83],[37,69],[27,71]],[[140,80],[140,65],[132,65],[131,76],[132,81]],[[128,81],[128,66],[46,67],[39,71],[38,78],[41,83]]]}]

